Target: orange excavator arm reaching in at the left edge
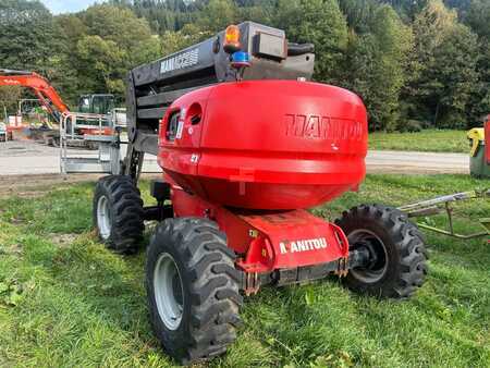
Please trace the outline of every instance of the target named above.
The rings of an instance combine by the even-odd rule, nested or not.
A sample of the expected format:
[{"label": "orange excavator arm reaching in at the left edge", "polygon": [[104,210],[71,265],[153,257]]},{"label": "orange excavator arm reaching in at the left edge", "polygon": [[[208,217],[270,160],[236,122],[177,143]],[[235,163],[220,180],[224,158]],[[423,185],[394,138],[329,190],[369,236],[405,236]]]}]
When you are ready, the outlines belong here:
[{"label": "orange excavator arm reaching in at the left edge", "polygon": [[57,90],[49,82],[34,72],[0,69],[0,86],[19,86],[30,88],[41,103],[57,120],[60,114],[70,112]]}]

